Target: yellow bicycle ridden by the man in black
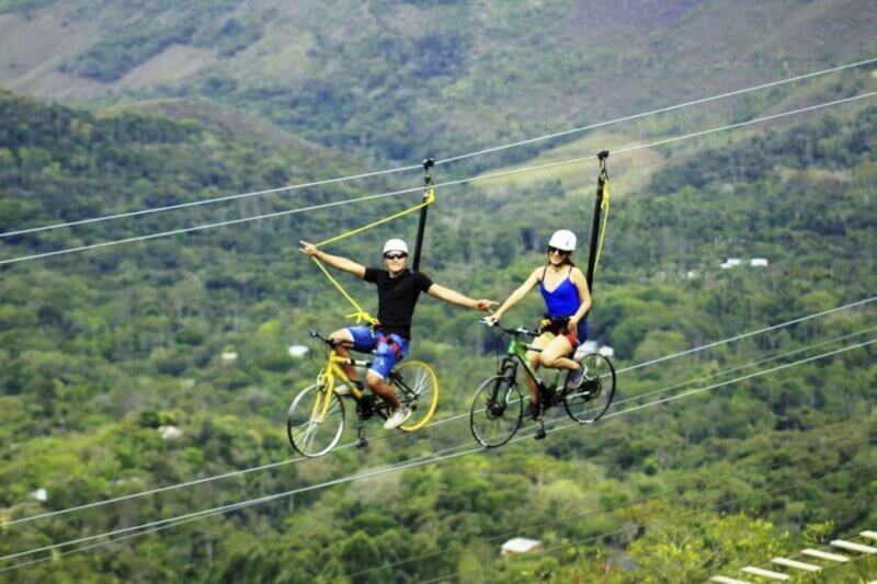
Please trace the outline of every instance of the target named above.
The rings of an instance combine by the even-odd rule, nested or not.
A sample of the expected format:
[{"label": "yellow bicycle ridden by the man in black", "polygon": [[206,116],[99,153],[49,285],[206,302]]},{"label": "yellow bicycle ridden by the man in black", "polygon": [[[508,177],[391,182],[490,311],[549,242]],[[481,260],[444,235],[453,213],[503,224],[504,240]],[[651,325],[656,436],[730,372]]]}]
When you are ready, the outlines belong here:
[{"label": "yellow bicycle ridden by the man in black", "polygon": [[[326,339],[315,330],[308,331],[308,334],[329,347],[328,358],[317,376],[317,382],[299,391],[289,405],[286,417],[289,444],[307,457],[322,456],[338,445],[344,432],[345,400],[335,393],[335,387],[341,383],[348,388],[348,394],[356,404],[356,446],[366,446],[368,440],[365,437],[365,421],[374,415],[386,420],[390,408],[384,400],[356,387],[342,366],[367,368],[372,363],[342,357],[335,351],[342,343]],[[343,344],[350,346],[348,343]],[[403,360],[392,368],[387,381],[396,390],[399,401],[414,412],[409,422],[399,426],[399,430],[414,432],[423,427],[438,405],[438,378],[433,368],[420,360]]]}]

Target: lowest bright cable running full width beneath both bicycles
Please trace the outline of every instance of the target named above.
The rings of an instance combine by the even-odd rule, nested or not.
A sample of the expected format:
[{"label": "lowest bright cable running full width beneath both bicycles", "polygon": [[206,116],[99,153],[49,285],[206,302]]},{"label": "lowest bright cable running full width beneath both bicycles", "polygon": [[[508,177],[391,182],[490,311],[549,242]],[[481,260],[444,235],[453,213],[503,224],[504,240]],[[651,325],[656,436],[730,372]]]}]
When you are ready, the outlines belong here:
[{"label": "lowest bright cable running full width beneath both bicycles", "polygon": [[[737,379],[731,379],[731,380],[727,380],[727,381],[721,381],[719,383],[714,383],[714,385],[708,386],[706,388],[698,388],[697,390],[692,390],[692,391],[688,391],[688,392],[685,392],[685,393],[682,393],[682,394],[679,394],[679,396],[674,396],[672,398],[656,400],[656,401],[650,402],[648,404],[637,405],[637,406],[630,408],[628,410],[625,410],[624,412],[616,412],[614,414],[606,415],[606,416],[603,417],[603,420],[606,420],[606,419],[610,419],[610,417],[617,417],[618,415],[622,415],[624,413],[638,411],[638,410],[641,410],[643,408],[648,408],[650,405],[657,405],[657,404],[665,403],[668,401],[672,401],[672,400],[675,400],[675,399],[681,399],[681,398],[684,398],[684,397],[687,397],[687,396],[692,396],[692,394],[695,394],[695,393],[701,393],[703,391],[708,391],[708,390],[711,390],[711,389],[716,389],[718,387],[722,387],[722,386],[731,385],[731,383],[734,383],[734,382],[743,381],[743,380],[751,379],[751,378],[754,378],[754,377],[759,377],[759,376],[762,376],[762,375],[767,375],[767,374],[771,374],[771,373],[775,373],[775,371],[778,371],[778,370],[787,369],[789,367],[795,367],[795,366],[802,365],[802,364],[806,364],[806,363],[811,363],[813,360],[822,359],[822,358],[830,357],[830,356],[833,356],[833,355],[839,355],[839,354],[845,353],[847,351],[853,351],[855,348],[862,348],[862,347],[865,347],[865,346],[869,346],[869,345],[872,345],[874,343],[877,343],[877,339],[873,339],[870,341],[866,341],[866,342],[863,342],[863,343],[856,343],[856,344],[853,344],[853,345],[848,345],[846,347],[842,347],[842,348],[839,348],[839,350],[835,350],[835,351],[830,351],[830,352],[827,352],[827,353],[822,353],[820,355],[808,357],[806,359],[799,359],[799,360],[794,362],[794,363],[785,364],[785,365],[782,365],[782,366],[778,366],[778,367],[774,367],[774,368],[771,368],[771,369],[766,369],[766,370],[763,370],[763,371],[758,371],[755,374],[750,374],[750,375],[747,375],[747,376],[743,376],[743,377],[740,377],[740,378],[737,378]],[[567,426],[563,426],[563,428],[578,427],[578,426],[579,426],[579,424],[569,424]],[[560,430],[560,428],[556,428],[556,430]],[[512,442],[519,442],[519,440],[521,440],[521,439],[523,439],[525,437],[529,437],[529,436],[526,435],[526,436],[520,436],[517,438],[513,438],[512,440],[510,440],[510,444]],[[460,446],[455,447],[455,448],[459,448],[459,447]],[[260,504],[263,504],[263,503],[267,503],[267,502],[271,502],[271,501],[276,501],[278,499],[287,497],[287,496],[291,496],[291,495],[294,495],[294,494],[298,494],[298,493],[303,493],[303,492],[316,491],[316,490],[324,489],[324,488],[328,488],[328,486],[333,486],[333,485],[337,485],[337,484],[342,484],[342,483],[348,483],[348,482],[357,481],[357,480],[362,480],[362,479],[367,479],[367,478],[379,476],[379,474],[385,474],[385,473],[389,473],[389,472],[396,472],[396,471],[406,470],[406,469],[409,469],[409,468],[415,468],[415,467],[420,467],[420,466],[424,466],[424,465],[430,465],[430,463],[433,463],[433,462],[440,462],[440,461],[443,461],[443,460],[458,458],[458,457],[462,457],[462,456],[467,456],[469,454],[474,454],[474,453],[482,451],[482,450],[486,450],[486,449],[479,446],[479,447],[469,448],[467,450],[463,450],[463,451],[458,451],[458,453],[454,453],[454,454],[447,454],[447,455],[443,455],[443,456],[431,457],[431,458],[418,460],[418,461],[414,461],[414,462],[405,461],[405,462],[401,462],[399,465],[385,467],[385,468],[373,470],[373,471],[356,473],[356,474],[353,474],[353,476],[340,477],[338,479],[332,479],[330,481],[326,481],[326,482],[322,482],[322,483],[319,483],[319,484],[315,484],[315,485],[293,489],[293,490],[285,491],[285,492],[282,492],[282,493],[275,493],[275,494],[265,495],[265,496],[261,496],[261,497],[257,497],[257,499],[251,499],[251,500],[248,500],[248,501],[242,501],[242,502],[238,502],[238,503],[231,503],[231,504],[228,504],[228,505],[223,505],[223,506],[214,507],[214,508],[210,508],[210,509],[193,512],[193,513],[180,515],[180,516],[176,516],[176,517],[170,517],[170,518],[167,518],[167,519],[158,519],[158,520],[150,522],[150,523],[147,523],[147,524],[126,527],[126,528],[117,529],[117,530],[114,530],[114,531],[107,531],[107,533],[103,533],[103,534],[95,534],[95,535],[91,535],[91,536],[84,536],[84,537],[81,537],[81,538],[72,539],[72,540],[69,540],[69,541],[60,542],[60,543],[53,543],[53,545],[49,545],[49,546],[44,546],[44,547],[32,549],[32,550],[26,550],[26,551],[21,551],[21,552],[8,554],[8,556],[2,556],[2,557],[0,557],[0,561],[13,560],[15,558],[21,558],[21,557],[24,557],[24,556],[32,556],[34,553],[39,553],[39,552],[44,552],[44,551],[53,551],[53,550],[56,550],[56,549],[59,549],[59,548],[64,548],[64,547],[68,547],[68,546],[75,546],[77,543],[82,543],[82,542],[91,541],[91,540],[94,540],[94,539],[100,539],[100,538],[104,538],[104,537],[113,537],[113,536],[116,536],[116,535],[123,535],[123,534],[128,534],[128,533],[132,533],[132,531],[141,530],[141,529],[148,529],[150,527],[156,527],[156,526],[164,525],[164,524],[168,524],[168,523],[175,523],[175,522],[180,522],[182,519],[202,518],[202,517],[207,517],[207,516],[210,516],[210,515],[224,514],[224,513],[228,513],[230,511],[236,511],[236,509],[239,509],[239,508],[250,507],[250,506],[253,506],[253,505],[260,505]]]}]

